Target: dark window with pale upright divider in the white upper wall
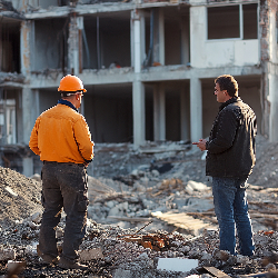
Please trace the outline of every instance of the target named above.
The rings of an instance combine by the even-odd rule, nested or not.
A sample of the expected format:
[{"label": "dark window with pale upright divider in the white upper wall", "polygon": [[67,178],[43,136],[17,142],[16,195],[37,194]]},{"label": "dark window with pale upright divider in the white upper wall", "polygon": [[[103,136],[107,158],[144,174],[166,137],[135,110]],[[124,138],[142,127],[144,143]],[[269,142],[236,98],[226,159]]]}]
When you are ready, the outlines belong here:
[{"label": "dark window with pale upright divider in the white upper wall", "polygon": [[209,7],[208,39],[257,39],[257,3]]}]

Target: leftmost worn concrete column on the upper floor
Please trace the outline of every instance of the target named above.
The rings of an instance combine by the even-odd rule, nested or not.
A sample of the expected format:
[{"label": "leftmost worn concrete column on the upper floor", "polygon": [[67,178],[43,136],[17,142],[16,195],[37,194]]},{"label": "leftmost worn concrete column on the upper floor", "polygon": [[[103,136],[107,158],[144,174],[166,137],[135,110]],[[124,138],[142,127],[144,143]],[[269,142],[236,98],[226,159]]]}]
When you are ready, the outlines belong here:
[{"label": "leftmost worn concrete column on the upper floor", "polygon": [[30,21],[21,22],[20,30],[20,53],[21,53],[21,72],[24,77],[28,77],[31,69],[31,51],[30,51],[30,41],[32,37],[32,24]]}]

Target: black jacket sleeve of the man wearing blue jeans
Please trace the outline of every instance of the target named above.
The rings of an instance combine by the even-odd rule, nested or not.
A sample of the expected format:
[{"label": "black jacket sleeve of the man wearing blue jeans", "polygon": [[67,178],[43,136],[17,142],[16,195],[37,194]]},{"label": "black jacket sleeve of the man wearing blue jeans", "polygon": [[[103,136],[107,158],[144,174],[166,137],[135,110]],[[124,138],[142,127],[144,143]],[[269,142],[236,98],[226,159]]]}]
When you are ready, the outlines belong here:
[{"label": "black jacket sleeve of the man wearing blue jeans", "polygon": [[234,111],[222,110],[218,116],[216,136],[206,143],[210,153],[220,153],[232,146],[238,129],[238,119]]}]

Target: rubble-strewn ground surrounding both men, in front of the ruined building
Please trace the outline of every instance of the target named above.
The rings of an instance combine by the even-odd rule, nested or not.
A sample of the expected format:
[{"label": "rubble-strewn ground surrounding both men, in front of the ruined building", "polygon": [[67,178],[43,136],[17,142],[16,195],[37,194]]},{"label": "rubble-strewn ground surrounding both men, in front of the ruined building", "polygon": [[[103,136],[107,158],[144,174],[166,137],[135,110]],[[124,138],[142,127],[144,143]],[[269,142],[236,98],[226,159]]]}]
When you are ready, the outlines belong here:
[{"label": "rubble-strewn ground surrounding both men, in front of the ruined building", "polygon": [[[255,231],[252,258],[219,252],[210,179],[205,176],[203,152],[185,142],[149,143],[132,150],[129,145],[96,146],[89,177],[88,230],[80,247],[101,250],[90,257],[88,271],[62,270],[37,256],[42,207],[39,175],[24,177],[0,167],[0,276],[9,260],[23,261],[18,277],[211,277],[215,267],[231,277],[272,271],[277,267],[278,143],[257,137],[257,165],[249,179],[248,201]],[[34,179],[37,178],[37,179]],[[193,229],[161,217],[181,214],[200,221]],[[183,216],[182,215],[182,216]],[[161,216],[161,217],[160,217]],[[208,226],[206,226],[208,225]],[[62,242],[63,221],[57,229]],[[161,258],[198,260],[189,271],[169,271]]]}]

